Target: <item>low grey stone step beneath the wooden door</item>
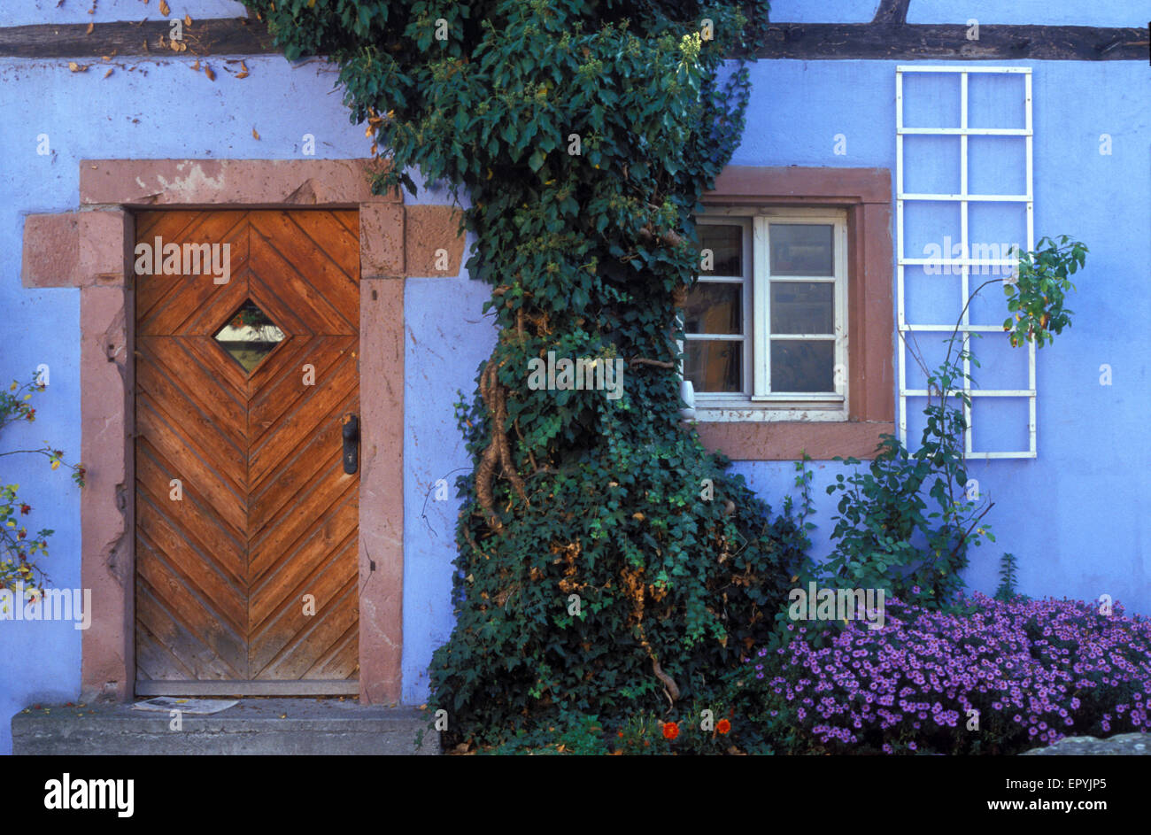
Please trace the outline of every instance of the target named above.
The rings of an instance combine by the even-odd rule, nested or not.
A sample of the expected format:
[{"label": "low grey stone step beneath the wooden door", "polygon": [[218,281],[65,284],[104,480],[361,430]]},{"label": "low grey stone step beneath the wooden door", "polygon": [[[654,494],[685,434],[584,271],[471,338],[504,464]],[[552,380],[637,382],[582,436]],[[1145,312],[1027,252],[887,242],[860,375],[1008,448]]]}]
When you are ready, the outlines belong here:
[{"label": "low grey stone step beneath the wooden door", "polygon": [[[38,705],[12,719],[14,754],[437,754],[430,712],[348,699],[241,699],[211,715]],[[422,744],[418,732],[422,730]]]}]

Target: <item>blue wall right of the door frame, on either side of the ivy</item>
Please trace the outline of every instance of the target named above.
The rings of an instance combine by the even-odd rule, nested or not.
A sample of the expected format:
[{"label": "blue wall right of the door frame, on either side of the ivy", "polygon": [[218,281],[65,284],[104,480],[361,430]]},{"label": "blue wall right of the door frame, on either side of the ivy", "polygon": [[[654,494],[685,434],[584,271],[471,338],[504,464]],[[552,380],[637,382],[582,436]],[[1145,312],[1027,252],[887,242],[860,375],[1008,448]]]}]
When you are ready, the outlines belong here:
[{"label": "blue wall right of the door frame, on either side of the ivy", "polygon": [[[894,172],[895,66],[894,61],[771,61],[753,67],[747,129],[732,165],[882,167]],[[1151,336],[1141,327],[1151,316],[1151,191],[1145,185],[1151,183],[1149,76],[1138,62],[1049,61],[1030,66],[1036,238],[1067,233],[1087,243],[1091,252],[1087,270],[1076,276],[1080,293],[1068,303],[1075,311],[1074,326],[1053,346],[1038,351],[1038,458],[970,462],[970,477],[978,479],[982,493],[996,502],[986,518],[998,542],[974,551],[966,576],[970,587],[993,591],[999,582],[999,555],[1009,551],[1020,560],[1021,587],[1029,594],[1095,599],[1107,593],[1130,609],[1151,612],[1151,554],[1146,547],[1151,541],[1151,445],[1141,428],[1151,407],[1146,394]],[[951,81],[958,85],[958,78]],[[999,78],[971,83],[973,124],[978,113],[989,120],[1022,119],[1021,106],[1012,98],[1012,83]],[[928,123],[925,120],[943,117],[946,97],[932,96],[939,91],[928,90],[925,79],[909,82],[908,93],[915,84],[924,84],[922,92],[927,94],[918,101],[928,101],[930,107],[915,111],[908,96],[908,120],[915,116]],[[958,111],[953,116],[958,117]],[[847,141],[844,155],[834,153],[839,134]],[[1100,134],[1112,138],[1110,155],[1099,153]],[[991,188],[1019,179],[1019,159],[1005,143],[971,143],[973,190],[980,182]],[[951,165],[958,172],[958,152],[953,159],[944,153],[935,157],[942,160],[940,167]],[[908,176],[938,174],[913,168]],[[958,173],[955,177],[958,183]],[[999,185],[996,190],[1009,188]],[[937,240],[932,220],[929,214],[909,218],[909,241]],[[999,218],[982,218],[980,222],[983,220],[989,229],[1004,228]],[[894,230],[892,235],[894,238]],[[1026,243],[1026,237],[1022,241]],[[922,256],[922,251],[908,248],[908,255]],[[935,286],[915,288],[918,295],[908,295],[909,311],[920,305],[950,312],[952,306],[946,305],[953,305],[958,314],[958,278],[933,276],[933,281]],[[946,296],[940,291],[945,281],[955,286],[947,288]],[[410,332],[417,337],[424,334],[417,343],[409,341],[406,357],[405,460],[411,462],[413,478],[405,485],[404,696],[412,700],[426,696],[427,661],[451,627],[447,591],[458,503],[428,501],[425,509],[425,495],[436,478],[468,464],[450,424],[449,401],[455,400],[457,388],[472,390],[475,365],[491,341],[486,327],[467,325],[473,328],[468,339],[477,342],[466,349],[450,347],[465,327],[457,311],[463,306],[473,311],[468,318],[477,319],[486,298],[480,288],[455,283],[410,283],[406,304]],[[977,308],[974,321],[983,320],[980,316],[994,321],[994,305],[1003,305],[998,288],[989,288],[985,295],[991,304]],[[999,321],[1003,318],[999,316]],[[426,346],[428,339],[433,347],[427,350],[443,356],[424,354],[420,344]],[[1026,352],[999,344],[1005,340],[989,334],[976,342],[984,359],[983,369],[976,370],[980,385],[1026,387]],[[460,362],[455,363],[456,357]],[[894,362],[894,339],[892,357]],[[1111,386],[1099,385],[1103,364],[1112,367]],[[425,374],[422,369],[442,373]],[[914,385],[914,374],[908,380]],[[417,404],[428,408],[417,413]],[[909,402],[913,434],[917,407],[922,403]],[[1026,446],[1026,401],[983,401],[977,404],[975,422],[977,448]],[[435,441],[429,446],[426,438]],[[836,499],[824,488],[846,468],[834,462],[811,466],[814,521],[818,525],[813,555],[825,556]],[[792,462],[737,462],[735,470],[777,508],[785,494],[794,492]],[[421,514],[429,517],[434,536]],[[425,574],[426,567],[434,567],[435,574]],[[411,582],[417,576],[420,590],[413,594]],[[434,593],[427,595],[425,590]]]}]

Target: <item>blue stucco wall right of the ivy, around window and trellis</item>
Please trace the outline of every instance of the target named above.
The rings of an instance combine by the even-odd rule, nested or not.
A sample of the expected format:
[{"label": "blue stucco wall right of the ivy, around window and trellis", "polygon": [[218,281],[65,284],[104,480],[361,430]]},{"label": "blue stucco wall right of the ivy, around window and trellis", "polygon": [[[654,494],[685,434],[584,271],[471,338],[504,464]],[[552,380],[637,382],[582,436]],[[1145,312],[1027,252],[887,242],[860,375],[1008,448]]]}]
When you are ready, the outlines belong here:
[{"label": "blue stucco wall right of the ivy, around window and trellis", "polygon": [[[1151,405],[1151,336],[1144,327],[1151,316],[1146,67],[1069,61],[1031,66],[1036,238],[1066,233],[1091,251],[1087,270],[1076,276],[1078,293],[1068,302],[1074,326],[1038,351],[1038,458],[971,462],[970,476],[996,502],[986,518],[998,542],[975,552],[967,580],[974,589],[993,590],[998,557],[1009,551],[1020,559],[1027,593],[1083,599],[1108,593],[1129,608],[1151,612],[1151,445],[1142,428]],[[753,67],[747,129],[732,162],[894,170],[894,67],[885,61],[772,61]],[[936,106],[942,113],[945,104],[938,100]],[[837,134],[846,138],[844,155],[834,153]],[[1099,153],[1102,134],[1112,138],[1110,155]],[[958,154],[952,160],[940,151],[938,159],[951,165]],[[1001,183],[1016,165],[1008,153],[992,150],[980,158],[980,170],[989,183]],[[909,223],[910,236],[928,236],[929,227],[920,222],[917,229]],[[1001,305],[998,290],[989,298]],[[954,310],[958,313],[958,306]],[[1022,351],[1012,356],[996,349],[997,341],[1003,340],[988,334],[975,346],[1001,359],[994,367],[975,370],[983,385],[1011,379],[1009,366],[1026,358]],[[1112,386],[1099,385],[1103,364],[1112,367]],[[976,422],[984,418],[977,431],[986,433],[981,434],[988,446],[1020,439],[1026,411],[998,411],[976,413]],[[787,463],[740,462],[737,469],[775,504],[794,479]],[[815,518],[816,555],[826,553],[831,529],[823,488],[841,471],[834,463],[815,465],[816,498],[824,502]]]}]

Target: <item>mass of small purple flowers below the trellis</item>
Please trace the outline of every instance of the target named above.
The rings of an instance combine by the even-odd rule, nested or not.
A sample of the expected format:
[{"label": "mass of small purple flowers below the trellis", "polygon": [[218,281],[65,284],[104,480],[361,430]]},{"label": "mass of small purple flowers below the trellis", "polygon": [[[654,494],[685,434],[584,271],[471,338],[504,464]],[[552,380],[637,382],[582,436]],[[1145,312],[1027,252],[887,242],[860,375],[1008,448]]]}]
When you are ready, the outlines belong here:
[{"label": "mass of small purple flowers below the trellis", "polygon": [[747,659],[745,694],[796,753],[1017,753],[1145,732],[1151,621],[1097,609],[975,594],[950,612],[889,601],[875,630],[791,624],[776,658]]}]

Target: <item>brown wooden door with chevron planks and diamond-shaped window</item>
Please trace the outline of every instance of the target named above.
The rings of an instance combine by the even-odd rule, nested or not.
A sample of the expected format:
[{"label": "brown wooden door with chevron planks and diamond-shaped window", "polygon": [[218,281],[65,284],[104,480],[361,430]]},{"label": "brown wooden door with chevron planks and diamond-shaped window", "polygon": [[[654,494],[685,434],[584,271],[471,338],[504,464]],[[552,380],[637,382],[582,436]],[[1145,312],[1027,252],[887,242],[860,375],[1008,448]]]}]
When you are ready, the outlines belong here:
[{"label": "brown wooden door with chevron planks and diamond-shaped window", "polygon": [[358,691],[358,229],[353,211],[137,217],[139,694]]}]

